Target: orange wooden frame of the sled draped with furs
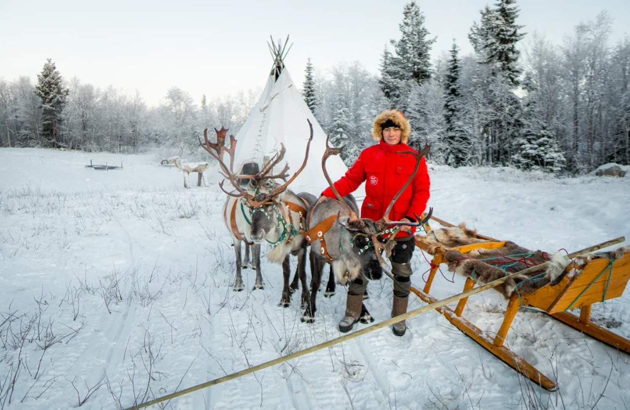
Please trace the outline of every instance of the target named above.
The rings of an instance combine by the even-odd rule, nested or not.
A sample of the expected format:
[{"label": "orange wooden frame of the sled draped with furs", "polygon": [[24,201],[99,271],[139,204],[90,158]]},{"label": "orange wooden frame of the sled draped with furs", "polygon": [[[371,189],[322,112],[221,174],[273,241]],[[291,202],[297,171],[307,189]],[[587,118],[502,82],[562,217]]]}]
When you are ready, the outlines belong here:
[{"label": "orange wooden frame of the sled draped with furs", "polygon": [[[446,227],[454,226],[442,220],[438,220],[438,222]],[[430,231],[430,227],[427,228],[427,232]],[[477,237],[488,242],[480,242],[455,248],[434,248],[431,270],[425,287],[423,290],[411,287],[411,291],[428,304],[437,302],[437,299],[432,297],[429,292],[439,265],[446,262],[444,254],[447,251],[457,249],[462,254],[466,254],[473,249],[496,249],[505,246],[505,242],[497,241],[491,237],[483,235],[477,235]],[[422,236],[416,235],[416,246],[428,252],[428,246],[422,239]],[[530,380],[544,389],[553,391],[557,389],[557,385],[553,380],[546,377],[539,370],[530,365],[530,363],[527,363],[524,358],[518,356],[503,345],[510,326],[512,325],[512,321],[520,307],[529,305],[541,309],[551,317],[554,317],[554,319],[558,319],[607,345],[630,353],[630,340],[590,321],[591,305],[621,296],[629,279],[630,252],[623,254],[621,258],[615,259],[614,261],[607,258],[597,258],[581,266],[574,261],[566,268],[564,276],[555,285],[549,283],[528,294],[519,294],[518,290],[514,292],[508,301],[503,322],[496,336],[485,333],[474,324],[461,317],[466,307],[467,298],[459,300],[455,310],[449,307],[440,307],[436,310],[443,314],[457,329],[473,338],[479,345],[503,360],[503,362],[517,370],[517,372],[529,377]],[[474,288],[474,285],[475,282],[473,279],[466,278],[464,292]],[[566,312],[566,310],[576,309],[578,307],[580,308],[579,317]]]}]

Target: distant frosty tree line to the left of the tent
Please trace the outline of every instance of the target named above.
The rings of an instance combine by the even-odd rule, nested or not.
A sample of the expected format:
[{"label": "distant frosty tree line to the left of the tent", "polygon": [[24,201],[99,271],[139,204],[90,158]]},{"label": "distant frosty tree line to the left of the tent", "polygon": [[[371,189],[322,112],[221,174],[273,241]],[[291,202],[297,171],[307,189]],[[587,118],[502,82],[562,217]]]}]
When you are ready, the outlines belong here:
[{"label": "distant frosty tree line to the left of the tent", "polygon": [[195,103],[189,93],[171,87],[161,105],[149,108],[138,90],[95,88],[76,77],[65,81],[48,59],[35,85],[27,76],[0,79],[0,146],[108,152],[161,147],[171,156],[184,144],[191,159],[207,159],[197,146],[200,130],[224,126],[236,134],[259,96],[250,89],[212,99],[204,95]]}]

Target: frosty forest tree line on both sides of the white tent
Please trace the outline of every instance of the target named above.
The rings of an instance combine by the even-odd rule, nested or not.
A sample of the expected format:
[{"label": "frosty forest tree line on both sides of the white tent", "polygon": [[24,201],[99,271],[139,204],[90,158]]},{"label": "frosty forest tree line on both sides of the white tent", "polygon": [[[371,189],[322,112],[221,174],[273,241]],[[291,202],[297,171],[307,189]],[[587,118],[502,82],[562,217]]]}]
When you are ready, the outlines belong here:
[{"label": "frosty forest tree line on both sides of the white tent", "polygon": [[[316,71],[309,59],[302,94],[333,144],[345,145],[348,165],[372,144],[372,120],[386,108],[403,111],[411,141],[430,142],[438,164],[571,175],[630,164],[630,39],[611,43],[612,18],[602,12],[552,44],[525,33],[518,12],[515,0],[486,6],[469,30],[474,53],[461,55],[454,41],[432,63],[435,38],[412,1],[378,74],[360,62]],[[173,87],[148,108],[139,91],[64,81],[48,60],[37,84],[0,79],[0,146],[138,152],[183,142],[195,156],[200,130],[236,134],[259,96],[195,103]]]}]

